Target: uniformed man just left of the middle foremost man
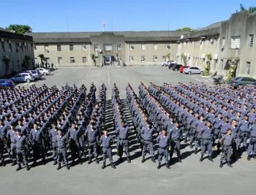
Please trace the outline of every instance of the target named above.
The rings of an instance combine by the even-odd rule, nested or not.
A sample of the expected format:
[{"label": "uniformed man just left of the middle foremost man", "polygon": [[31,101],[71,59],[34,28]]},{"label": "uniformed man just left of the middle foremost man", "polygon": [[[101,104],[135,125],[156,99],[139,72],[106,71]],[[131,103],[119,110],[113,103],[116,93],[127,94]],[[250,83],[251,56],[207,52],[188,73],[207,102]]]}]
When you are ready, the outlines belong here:
[{"label": "uniformed man just left of the middle foremost man", "polygon": [[88,164],[91,164],[91,158],[94,155],[95,161],[99,164],[98,161],[98,153],[97,153],[97,145],[99,143],[99,132],[95,130],[95,127],[91,123],[89,127],[86,129],[84,134],[85,137],[88,137],[89,142],[89,161]]}]

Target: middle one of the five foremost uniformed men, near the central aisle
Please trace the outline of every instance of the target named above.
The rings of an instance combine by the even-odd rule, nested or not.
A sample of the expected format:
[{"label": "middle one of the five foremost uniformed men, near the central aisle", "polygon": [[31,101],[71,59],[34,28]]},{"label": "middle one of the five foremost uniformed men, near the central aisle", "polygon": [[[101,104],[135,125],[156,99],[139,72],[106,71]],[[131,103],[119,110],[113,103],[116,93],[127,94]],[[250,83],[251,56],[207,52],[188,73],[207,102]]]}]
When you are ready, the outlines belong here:
[{"label": "middle one of the five foremost uniformed men, near the central aisle", "polygon": [[113,144],[113,137],[108,135],[108,131],[103,131],[102,137],[99,139],[99,144],[102,145],[102,154],[103,154],[103,165],[102,169],[106,167],[106,159],[108,155],[108,159],[110,161],[111,167],[116,169],[116,166],[113,164],[112,152],[111,152],[111,144]]}]

